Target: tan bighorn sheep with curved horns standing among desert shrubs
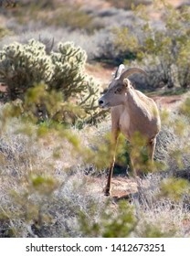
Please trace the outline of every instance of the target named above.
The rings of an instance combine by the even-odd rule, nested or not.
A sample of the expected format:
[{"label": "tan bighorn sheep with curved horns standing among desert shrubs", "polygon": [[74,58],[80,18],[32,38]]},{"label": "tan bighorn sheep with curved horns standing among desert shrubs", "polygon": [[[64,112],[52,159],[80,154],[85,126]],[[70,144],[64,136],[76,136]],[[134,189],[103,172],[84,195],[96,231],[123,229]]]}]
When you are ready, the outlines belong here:
[{"label": "tan bighorn sheep with curved horns standing among desert shrubs", "polygon": [[[108,91],[99,100],[101,108],[111,108],[111,145],[114,154],[111,156],[111,166],[104,191],[106,196],[110,195],[111,176],[119,133],[122,133],[131,143],[132,136],[135,133],[140,133],[142,138],[145,138],[149,158],[153,161],[156,135],[161,128],[159,112],[153,99],[148,98],[141,91],[134,90],[131,81],[127,79],[133,73],[147,75],[142,69],[125,69],[124,65],[121,64],[109,85]],[[132,154],[131,163],[134,175],[138,176]]]}]

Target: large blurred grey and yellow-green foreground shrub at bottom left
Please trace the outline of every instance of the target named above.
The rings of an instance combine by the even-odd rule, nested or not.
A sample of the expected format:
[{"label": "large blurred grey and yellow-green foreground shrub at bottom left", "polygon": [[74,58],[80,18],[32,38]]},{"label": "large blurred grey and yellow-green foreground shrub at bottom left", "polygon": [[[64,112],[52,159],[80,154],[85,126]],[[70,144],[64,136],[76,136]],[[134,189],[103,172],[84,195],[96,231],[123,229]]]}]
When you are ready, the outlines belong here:
[{"label": "large blurred grey and yellow-green foreground shrub at bottom left", "polygon": [[[82,153],[70,147],[69,137],[61,133],[60,140],[55,130],[46,136],[37,131],[37,125],[10,117],[3,129],[0,236],[130,236],[136,225],[132,207],[122,202],[113,214],[111,200],[97,193],[102,187],[81,172]],[[67,162],[75,162],[74,173]]]}]

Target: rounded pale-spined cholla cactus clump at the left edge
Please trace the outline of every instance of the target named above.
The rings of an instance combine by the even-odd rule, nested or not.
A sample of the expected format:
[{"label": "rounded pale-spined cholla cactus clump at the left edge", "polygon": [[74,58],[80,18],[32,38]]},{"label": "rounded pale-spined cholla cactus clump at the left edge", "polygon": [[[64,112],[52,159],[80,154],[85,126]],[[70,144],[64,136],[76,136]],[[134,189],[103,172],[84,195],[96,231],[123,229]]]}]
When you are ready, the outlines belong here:
[{"label": "rounded pale-spined cholla cactus clump at the left edge", "polygon": [[40,42],[32,39],[26,45],[13,43],[0,52],[0,82],[7,86],[11,101],[22,98],[35,82],[49,82],[51,77],[52,61]]}]

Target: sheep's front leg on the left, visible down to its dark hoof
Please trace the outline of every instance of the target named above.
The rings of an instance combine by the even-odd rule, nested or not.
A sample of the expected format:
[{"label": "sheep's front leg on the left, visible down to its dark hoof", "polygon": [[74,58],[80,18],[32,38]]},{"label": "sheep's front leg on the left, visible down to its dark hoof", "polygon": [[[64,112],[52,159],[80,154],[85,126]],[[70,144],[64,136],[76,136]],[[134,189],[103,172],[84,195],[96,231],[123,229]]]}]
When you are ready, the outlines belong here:
[{"label": "sheep's front leg on the left, visible down to its dark hoof", "polygon": [[112,129],[112,139],[111,139],[111,165],[109,168],[109,174],[108,174],[108,180],[107,180],[107,185],[104,188],[104,194],[105,196],[110,196],[111,195],[111,177],[113,173],[113,167],[115,164],[115,154],[116,154],[116,148],[117,148],[117,142],[118,142],[118,135],[119,131]]}]

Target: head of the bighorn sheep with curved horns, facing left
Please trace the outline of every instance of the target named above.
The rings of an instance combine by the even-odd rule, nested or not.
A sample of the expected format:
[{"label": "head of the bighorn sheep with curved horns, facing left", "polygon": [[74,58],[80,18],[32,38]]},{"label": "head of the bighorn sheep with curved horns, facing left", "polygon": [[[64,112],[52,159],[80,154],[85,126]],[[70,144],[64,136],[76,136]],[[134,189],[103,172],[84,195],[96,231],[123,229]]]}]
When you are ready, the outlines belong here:
[{"label": "head of the bighorn sheep with curved horns, facing left", "polygon": [[126,102],[128,91],[132,90],[132,84],[127,78],[133,73],[147,75],[142,69],[132,68],[125,70],[123,64],[119,66],[109,85],[108,91],[99,100],[101,108],[108,109]]}]

